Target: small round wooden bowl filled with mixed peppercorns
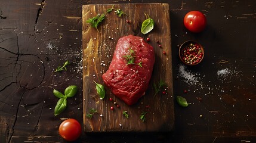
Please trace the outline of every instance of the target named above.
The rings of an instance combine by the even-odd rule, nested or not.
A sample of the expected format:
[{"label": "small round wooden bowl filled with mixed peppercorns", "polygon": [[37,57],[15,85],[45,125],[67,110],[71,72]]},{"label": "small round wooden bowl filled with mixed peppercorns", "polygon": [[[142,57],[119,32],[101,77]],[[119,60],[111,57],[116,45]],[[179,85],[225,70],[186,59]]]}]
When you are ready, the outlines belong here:
[{"label": "small round wooden bowl filled with mixed peppercorns", "polygon": [[189,66],[195,66],[203,60],[205,51],[203,46],[196,41],[186,41],[178,50],[180,60]]}]

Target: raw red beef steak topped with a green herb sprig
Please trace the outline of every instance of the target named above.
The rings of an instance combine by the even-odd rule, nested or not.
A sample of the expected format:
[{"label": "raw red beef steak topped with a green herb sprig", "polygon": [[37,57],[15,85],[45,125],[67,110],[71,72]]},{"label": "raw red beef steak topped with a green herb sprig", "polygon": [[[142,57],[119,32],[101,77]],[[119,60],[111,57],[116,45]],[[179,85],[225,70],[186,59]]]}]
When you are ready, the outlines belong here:
[{"label": "raw red beef steak topped with a green herb sprig", "polygon": [[132,105],[145,94],[154,63],[151,45],[138,36],[124,36],[116,43],[112,62],[102,78],[116,97]]}]

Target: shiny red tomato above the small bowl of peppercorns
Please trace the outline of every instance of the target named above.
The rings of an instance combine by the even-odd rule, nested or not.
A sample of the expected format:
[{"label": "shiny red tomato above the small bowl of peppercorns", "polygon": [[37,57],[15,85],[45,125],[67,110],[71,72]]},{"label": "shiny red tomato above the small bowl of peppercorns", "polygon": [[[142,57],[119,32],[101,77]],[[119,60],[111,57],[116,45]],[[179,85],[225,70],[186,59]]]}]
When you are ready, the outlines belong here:
[{"label": "shiny red tomato above the small bowl of peppercorns", "polygon": [[190,11],[184,17],[184,26],[191,32],[202,32],[206,27],[206,17],[200,11]]}]

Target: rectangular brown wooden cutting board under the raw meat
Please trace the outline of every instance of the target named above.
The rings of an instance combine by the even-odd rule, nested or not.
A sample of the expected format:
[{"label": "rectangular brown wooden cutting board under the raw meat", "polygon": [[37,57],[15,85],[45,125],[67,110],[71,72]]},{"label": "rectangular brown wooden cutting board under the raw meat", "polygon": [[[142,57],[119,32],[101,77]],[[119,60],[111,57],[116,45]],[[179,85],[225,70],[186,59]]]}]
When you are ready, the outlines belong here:
[{"label": "rectangular brown wooden cutting board under the raw meat", "polygon": [[[112,8],[124,11],[121,17]],[[98,25],[98,32],[90,24],[89,18],[106,13],[105,19]],[[147,35],[140,32],[145,14],[155,21],[154,29]],[[84,5],[83,20],[83,94],[84,94],[84,130],[85,132],[168,132],[174,127],[174,101],[172,92],[171,29],[168,4],[115,4]],[[129,23],[127,23],[129,20]],[[106,88],[106,97],[100,100],[95,82],[104,85],[101,75],[107,71],[113,57],[116,42],[122,36],[137,35],[150,38],[149,44],[155,49],[155,66],[146,95],[135,105],[127,105]],[[157,43],[156,41],[159,41]],[[161,47],[159,47],[161,45]],[[166,54],[164,54],[164,52]],[[153,83],[163,80],[166,83],[157,95]],[[166,94],[162,92],[165,91]],[[109,98],[113,98],[110,101]],[[116,104],[114,104],[116,102]],[[119,105],[119,108],[116,105]],[[110,110],[114,107],[114,110]],[[97,110],[91,119],[86,117],[90,108]],[[123,111],[127,111],[127,119]],[[145,114],[145,122],[140,119]]]}]

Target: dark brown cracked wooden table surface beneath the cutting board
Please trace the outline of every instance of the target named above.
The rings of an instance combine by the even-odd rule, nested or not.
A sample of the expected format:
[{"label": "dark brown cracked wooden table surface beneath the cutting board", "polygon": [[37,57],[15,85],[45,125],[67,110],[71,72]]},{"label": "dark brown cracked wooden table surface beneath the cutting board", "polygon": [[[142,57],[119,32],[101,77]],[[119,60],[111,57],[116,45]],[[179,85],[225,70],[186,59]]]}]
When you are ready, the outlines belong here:
[{"label": "dark brown cracked wooden table surface beneath the cutting board", "polygon": [[[60,123],[83,123],[82,5],[138,2],[156,1],[0,1],[0,142],[65,142]],[[256,142],[256,1],[157,2],[170,7],[174,97],[192,105],[174,102],[171,133],[82,133],[77,142]],[[183,26],[191,10],[206,15],[201,33]],[[177,45],[190,39],[205,48],[195,67],[178,58]],[[67,71],[54,73],[66,60]],[[53,89],[69,85],[78,94],[54,116]]]}]

